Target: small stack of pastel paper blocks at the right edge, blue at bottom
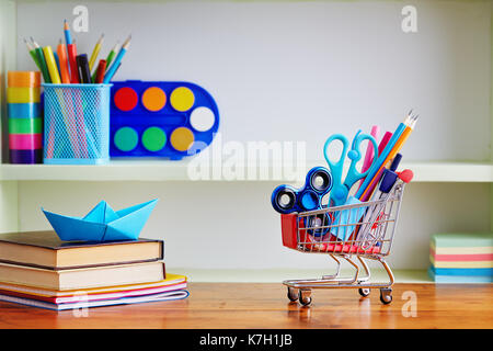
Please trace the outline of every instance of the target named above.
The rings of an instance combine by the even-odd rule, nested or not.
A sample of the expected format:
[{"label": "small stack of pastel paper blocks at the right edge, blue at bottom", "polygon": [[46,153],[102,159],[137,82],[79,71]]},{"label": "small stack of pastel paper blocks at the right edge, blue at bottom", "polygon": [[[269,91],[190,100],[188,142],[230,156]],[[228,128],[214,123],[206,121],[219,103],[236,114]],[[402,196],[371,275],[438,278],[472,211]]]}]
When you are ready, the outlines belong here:
[{"label": "small stack of pastel paper blocks at the right edge, blue at bottom", "polygon": [[493,233],[436,234],[429,260],[428,273],[436,283],[492,283]]}]

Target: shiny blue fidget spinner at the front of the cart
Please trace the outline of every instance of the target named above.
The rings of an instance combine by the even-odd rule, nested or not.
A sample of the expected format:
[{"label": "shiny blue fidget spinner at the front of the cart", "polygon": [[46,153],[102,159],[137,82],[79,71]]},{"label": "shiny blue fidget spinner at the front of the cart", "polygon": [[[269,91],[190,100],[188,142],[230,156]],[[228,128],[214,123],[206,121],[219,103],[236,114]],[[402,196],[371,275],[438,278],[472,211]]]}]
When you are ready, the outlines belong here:
[{"label": "shiny blue fidget spinner at the front of the cart", "polygon": [[323,167],[314,167],[308,171],[301,189],[290,185],[274,189],[271,203],[280,214],[322,208],[322,197],[330,192],[332,184],[330,171]]}]

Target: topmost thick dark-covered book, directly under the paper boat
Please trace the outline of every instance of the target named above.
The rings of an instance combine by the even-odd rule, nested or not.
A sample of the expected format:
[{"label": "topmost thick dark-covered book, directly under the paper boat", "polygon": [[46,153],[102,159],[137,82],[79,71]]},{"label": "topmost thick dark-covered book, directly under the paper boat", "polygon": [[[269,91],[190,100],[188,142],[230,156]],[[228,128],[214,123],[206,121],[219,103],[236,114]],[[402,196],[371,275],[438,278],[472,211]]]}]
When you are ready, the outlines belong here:
[{"label": "topmost thick dark-covered book, directly under the paper boat", "polygon": [[0,234],[0,262],[50,270],[162,260],[164,242],[62,241],[51,230]]}]

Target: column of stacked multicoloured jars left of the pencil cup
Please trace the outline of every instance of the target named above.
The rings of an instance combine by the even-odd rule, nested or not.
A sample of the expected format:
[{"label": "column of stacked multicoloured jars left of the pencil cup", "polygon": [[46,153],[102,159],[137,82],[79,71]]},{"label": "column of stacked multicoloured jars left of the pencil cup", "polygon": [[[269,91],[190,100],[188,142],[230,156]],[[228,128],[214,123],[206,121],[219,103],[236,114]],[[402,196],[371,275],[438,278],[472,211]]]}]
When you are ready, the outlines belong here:
[{"label": "column of stacked multicoloured jars left of the pencil cup", "polygon": [[10,162],[41,163],[43,159],[41,73],[9,71],[7,77]]}]

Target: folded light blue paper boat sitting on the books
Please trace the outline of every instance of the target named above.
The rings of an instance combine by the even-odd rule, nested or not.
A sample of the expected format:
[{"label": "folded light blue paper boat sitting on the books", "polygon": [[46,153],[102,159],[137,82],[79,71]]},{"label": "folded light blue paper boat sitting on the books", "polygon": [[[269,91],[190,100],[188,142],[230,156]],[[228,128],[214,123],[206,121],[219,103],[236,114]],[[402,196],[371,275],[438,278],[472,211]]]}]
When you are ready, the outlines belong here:
[{"label": "folded light blue paper boat sitting on the books", "polygon": [[43,207],[42,211],[60,240],[137,240],[157,202],[156,199],[115,212],[102,201],[83,218],[58,215]]}]

